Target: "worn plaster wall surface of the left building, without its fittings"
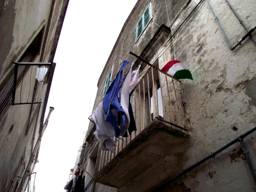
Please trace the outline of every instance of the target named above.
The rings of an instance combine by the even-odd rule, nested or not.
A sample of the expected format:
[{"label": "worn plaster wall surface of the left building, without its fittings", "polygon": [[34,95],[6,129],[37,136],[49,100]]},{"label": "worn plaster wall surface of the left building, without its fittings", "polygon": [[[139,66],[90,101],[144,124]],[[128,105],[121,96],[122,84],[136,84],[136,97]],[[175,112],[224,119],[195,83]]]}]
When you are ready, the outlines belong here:
[{"label": "worn plaster wall surface of the left building, without its fittings", "polygon": [[[50,30],[47,36],[46,29],[49,24],[48,19],[53,2],[54,10]],[[56,43],[54,42],[56,31],[60,25],[60,16],[63,14],[66,2],[66,0],[4,0],[0,2],[0,84],[4,83],[3,80],[5,79],[5,76],[7,76],[11,69],[14,68],[12,62],[17,62],[20,59],[42,27],[45,28],[44,33],[42,34],[41,50],[34,62],[49,62],[49,59],[54,56],[52,55],[52,49],[54,43]],[[47,40],[47,44],[44,46],[43,50],[44,40]],[[42,55],[43,52],[44,55]],[[36,70],[37,66],[34,66],[25,74],[22,82],[21,96],[21,83],[17,86],[15,95],[16,103],[20,102],[20,97],[22,102],[27,102],[27,99],[28,102],[32,101],[33,91],[36,84]],[[31,73],[32,76],[30,79]],[[49,74],[49,72],[47,74]],[[31,153],[39,137],[41,120],[43,121],[41,117],[45,112],[43,105],[45,104],[44,100],[46,98],[47,86],[48,84],[38,84],[38,86],[35,87],[36,101],[42,99],[42,105],[39,111],[37,124],[35,117],[27,135],[25,135],[27,125],[36,110],[37,104],[34,105],[31,117],[29,117],[31,105],[10,106],[0,122],[0,191],[8,191],[12,185],[12,179],[15,178],[14,175],[19,174],[18,167],[24,151],[25,158],[23,161],[25,161],[25,169],[27,168]],[[46,111],[48,111],[48,109]],[[33,164],[31,170],[32,168]],[[21,176],[23,176],[22,173]],[[16,180],[12,187],[15,187],[15,185]]]}]

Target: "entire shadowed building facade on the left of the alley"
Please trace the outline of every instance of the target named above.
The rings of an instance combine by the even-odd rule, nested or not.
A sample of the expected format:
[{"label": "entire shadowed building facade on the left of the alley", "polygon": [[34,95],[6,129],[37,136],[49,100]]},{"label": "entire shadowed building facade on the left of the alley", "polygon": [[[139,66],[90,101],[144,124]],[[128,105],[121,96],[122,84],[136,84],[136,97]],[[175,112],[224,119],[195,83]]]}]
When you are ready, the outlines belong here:
[{"label": "entire shadowed building facade on the left of the alley", "polygon": [[[67,6],[68,0],[0,2],[2,192],[34,191],[39,146],[54,109],[44,122]],[[37,72],[37,78],[43,72],[40,82]]]}]

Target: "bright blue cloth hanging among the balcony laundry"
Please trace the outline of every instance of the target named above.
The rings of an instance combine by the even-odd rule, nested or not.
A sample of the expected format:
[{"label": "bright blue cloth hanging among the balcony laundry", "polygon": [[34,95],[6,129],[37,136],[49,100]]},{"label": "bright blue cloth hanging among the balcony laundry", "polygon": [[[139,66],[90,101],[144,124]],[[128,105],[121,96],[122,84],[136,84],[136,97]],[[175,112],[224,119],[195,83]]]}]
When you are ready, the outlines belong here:
[{"label": "bright blue cloth hanging among the balcony laundry", "polygon": [[[103,99],[103,109],[105,111],[105,119],[107,122],[111,123],[111,125],[114,127],[115,135],[116,137],[119,137],[119,135],[122,133],[122,130],[118,127],[118,121],[116,116],[112,113],[112,109],[115,109],[117,112],[121,113],[122,118],[124,117],[124,110],[119,105],[118,101],[118,92],[119,87],[122,80],[123,75],[123,69],[126,65],[128,65],[130,62],[124,61],[121,68],[119,69],[116,78],[113,80],[111,85],[108,87],[108,90],[106,92],[106,95]],[[125,122],[125,121],[123,121]],[[124,125],[123,125],[124,126]]]}]

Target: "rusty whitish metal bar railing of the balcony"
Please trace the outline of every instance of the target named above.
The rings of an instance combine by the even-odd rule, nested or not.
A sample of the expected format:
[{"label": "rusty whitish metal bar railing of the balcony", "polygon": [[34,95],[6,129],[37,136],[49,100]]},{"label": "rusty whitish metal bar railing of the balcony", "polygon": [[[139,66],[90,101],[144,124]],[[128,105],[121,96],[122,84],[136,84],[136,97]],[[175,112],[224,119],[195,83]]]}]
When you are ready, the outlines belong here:
[{"label": "rusty whitish metal bar railing of the balcony", "polygon": [[155,118],[180,128],[184,127],[181,82],[161,73],[159,70],[155,70],[153,67],[144,68],[141,74],[131,97],[137,131],[132,132],[126,138],[114,137],[113,139],[117,144],[115,147],[116,154],[101,150],[95,173],[107,165]]}]

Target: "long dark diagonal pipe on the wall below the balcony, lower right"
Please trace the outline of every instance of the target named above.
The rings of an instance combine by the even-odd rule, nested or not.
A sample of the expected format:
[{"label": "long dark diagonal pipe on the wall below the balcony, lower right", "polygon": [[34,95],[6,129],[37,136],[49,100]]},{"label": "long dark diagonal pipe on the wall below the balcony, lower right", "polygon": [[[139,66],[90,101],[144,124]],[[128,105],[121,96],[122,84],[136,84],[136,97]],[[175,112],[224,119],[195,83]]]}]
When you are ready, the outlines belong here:
[{"label": "long dark diagonal pipe on the wall below the balcony, lower right", "polygon": [[[211,153],[209,156],[207,156],[206,158],[202,159],[201,161],[197,162],[196,164],[192,165],[191,167],[189,167],[188,169],[186,169],[185,171],[183,171],[181,174],[177,175],[176,177],[172,178],[171,180],[167,180],[166,182],[172,182],[175,181],[177,178],[185,175],[187,172],[193,170],[194,168],[196,168],[197,166],[201,165],[203,162],[209,160],[210,158],[214,158],[215,155],[219,154],[220,152],[222,152],[223,150],[225,150],[226,148],[228,148],[229,146],[235,144],[236,142],[240,141],[240,139],[245,138],[246,136],[248,136],[249,134],[251,134],[252,132],[255,132],[256,127],[252,128],[251,130],[249,130],[248,132],[242,134],[240,137],[234,139],[233,141],[229,142],[228,144],[224,145],[222,148],[218,149],[217,151]],[[165,182],[165,183],[166,183]]]}]

